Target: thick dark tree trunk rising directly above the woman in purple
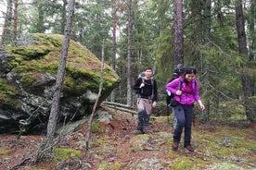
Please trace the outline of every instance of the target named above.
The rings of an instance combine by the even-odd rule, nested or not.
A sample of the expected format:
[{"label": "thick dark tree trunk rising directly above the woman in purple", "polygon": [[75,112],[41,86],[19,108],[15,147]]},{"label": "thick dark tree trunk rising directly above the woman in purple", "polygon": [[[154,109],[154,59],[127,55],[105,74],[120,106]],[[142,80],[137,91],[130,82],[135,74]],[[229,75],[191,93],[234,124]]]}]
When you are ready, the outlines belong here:
[{"label": "thick dark tree trunk rising directly above the woman in purple", "polygon": [[183,1],[174,1],[174,68],[184,65],[183,56]]}]

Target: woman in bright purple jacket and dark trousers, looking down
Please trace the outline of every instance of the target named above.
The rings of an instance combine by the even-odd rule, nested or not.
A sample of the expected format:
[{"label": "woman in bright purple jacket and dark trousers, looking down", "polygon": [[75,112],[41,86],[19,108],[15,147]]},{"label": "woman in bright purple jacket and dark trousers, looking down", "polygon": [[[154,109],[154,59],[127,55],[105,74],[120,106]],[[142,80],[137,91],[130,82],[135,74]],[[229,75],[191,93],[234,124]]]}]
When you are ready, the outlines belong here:
[{"label": "woman in bright purple jacket and dark trousers, looking down", "polygon": [[[174,79],[172,82],[166,85],[166,89],[171,91],[174,96],[174,100],[177,105],[174,106],[174,113],[177,119],[177,125],[173,134],[173,150],[178,149],[179,142],[181,140],[181,134],[183,128],[185,129],[184,147],[189,152],[194,152],[194,148],[191,146],[191,127],[193,121],[193,108],[194,103],[198,102],[201,110],[205,107],[200,100],[198,94],[198,80],[196,79],[197,70],[195,67],[185,67],[184,74],[178,79]],[[179,85],[181,83],[181,90]]]}]

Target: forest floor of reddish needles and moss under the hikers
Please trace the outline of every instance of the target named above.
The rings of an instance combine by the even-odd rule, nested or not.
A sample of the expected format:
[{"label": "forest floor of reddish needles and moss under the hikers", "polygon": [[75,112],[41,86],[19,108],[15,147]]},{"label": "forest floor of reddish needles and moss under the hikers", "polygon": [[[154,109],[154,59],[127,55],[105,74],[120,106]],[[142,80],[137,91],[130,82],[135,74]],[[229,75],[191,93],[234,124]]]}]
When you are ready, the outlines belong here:
[{"label": "forest floor of reddish needles and moss under the hikers", "polygon": [[171,117],[152,115],[147,134],[139,134],[136,115],[108,110],[111,121],[94,127],[88,152],[84,140],[86,124],[83,124],[82,128],[58,141],[55,148],[63,150],[55,152],[51,161],[45,159],[32,164],[35,153],[44,142],[44,135],[27,135],[19,139],[15,135],[0,135],[0,169],[256,169],[255,125],[196,122],[192,128],[195,152],[187,152],[183,148],[183,140],[178,151],[173,151],[173,128],[168,121]]}]

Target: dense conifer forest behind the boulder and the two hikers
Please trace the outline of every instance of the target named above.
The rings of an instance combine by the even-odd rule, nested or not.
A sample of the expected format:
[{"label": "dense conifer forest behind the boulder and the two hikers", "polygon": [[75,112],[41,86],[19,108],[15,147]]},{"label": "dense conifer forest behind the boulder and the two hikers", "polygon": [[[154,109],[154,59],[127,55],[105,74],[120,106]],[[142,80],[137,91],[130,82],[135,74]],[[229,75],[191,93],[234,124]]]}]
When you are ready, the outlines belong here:
[{"label": "dense conifer forest behind the boulder and the two hikers", "polygon": [[[0,0],[0,45],[26,44],[29,33],[64,34],[68,3]],[[134,105],[134,80],[145,67],[152,67],[158,105],[164,107],[164,86],[181,64],[198,68],[200,95],[207,107],[201,122],[255,122],[255,21],[256,0],[76,0],[70,38],[98,58],[104,45],[105,61],[122,79],[109,96],[111,102]],[[182,30],[180,48],[177,30]]]}]

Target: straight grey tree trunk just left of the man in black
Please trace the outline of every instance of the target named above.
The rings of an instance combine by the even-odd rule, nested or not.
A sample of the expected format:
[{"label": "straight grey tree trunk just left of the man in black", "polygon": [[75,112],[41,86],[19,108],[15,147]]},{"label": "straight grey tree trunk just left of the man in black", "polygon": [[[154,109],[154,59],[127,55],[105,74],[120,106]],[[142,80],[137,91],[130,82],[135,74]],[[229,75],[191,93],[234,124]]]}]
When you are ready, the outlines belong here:
[{"label": "straight grey tree trunk just left of the man in black", "polygon": [[132,0],[127,1],[128,4],[128,24],[127,24],[127,105],[132,105],[132,78],[131,78],[131,62],[132,62],[132,30],[133,30],[133,14]]}]

